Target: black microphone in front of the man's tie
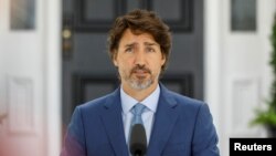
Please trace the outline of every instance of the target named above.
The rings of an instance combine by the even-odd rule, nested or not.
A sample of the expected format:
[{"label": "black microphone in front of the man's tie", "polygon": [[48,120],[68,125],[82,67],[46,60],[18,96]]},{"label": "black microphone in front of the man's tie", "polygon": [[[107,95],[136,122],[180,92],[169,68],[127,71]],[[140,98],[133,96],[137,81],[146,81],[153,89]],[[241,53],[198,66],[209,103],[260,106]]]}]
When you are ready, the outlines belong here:
[{"label": "black microphone in front of the man's tie", "polygon": [[144,156],[147,152],[147,136],[144,125],[135,124],[130,132],[129,150],[132,156]]}]

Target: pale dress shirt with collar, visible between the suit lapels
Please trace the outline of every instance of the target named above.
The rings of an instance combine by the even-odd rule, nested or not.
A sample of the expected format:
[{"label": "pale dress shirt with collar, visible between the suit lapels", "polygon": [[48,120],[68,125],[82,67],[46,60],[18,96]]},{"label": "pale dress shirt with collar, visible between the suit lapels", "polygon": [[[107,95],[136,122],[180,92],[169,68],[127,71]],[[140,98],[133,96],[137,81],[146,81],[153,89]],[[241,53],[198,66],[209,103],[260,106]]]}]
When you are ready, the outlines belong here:
[{"label": "pale dress shirt with collar, visible between the suit lapels", "polygon": [[157,104],[160,95],[160,86],[158,85],[157,89],[144,101],[138,102],[134,97],[129,96],[126,92],[124,92],[123,87],[120,87],[120,100],[121,100],[121,107],[123,107],[123,123],[124,123],[124,129],[125,129],[125,137],[126,142],[128,144],[128,137],[129,137],[129,129],[130,129],[130,123],[132,118],[132,113],[130,110],[132,106],[137,103],[141,103],[147,106],[147,111],[145,111],[141,115],[142,123],[146,129],[147,135],[147,144],[149,144],[149,138],[151,134],[151,128],[155,121],[155,113],[157,110]]}]

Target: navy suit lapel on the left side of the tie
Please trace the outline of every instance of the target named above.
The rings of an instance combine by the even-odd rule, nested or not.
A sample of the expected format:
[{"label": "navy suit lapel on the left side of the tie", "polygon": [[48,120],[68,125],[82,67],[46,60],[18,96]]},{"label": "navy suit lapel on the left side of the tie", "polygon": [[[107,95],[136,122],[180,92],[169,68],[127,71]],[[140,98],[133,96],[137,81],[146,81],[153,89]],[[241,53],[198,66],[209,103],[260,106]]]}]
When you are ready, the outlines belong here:
[{"label": "navy suit lapel on the left side of the tie", "polygon": [[121,104],[119,90],[105,103],[102,121],[106,127],[108,138],[117,156],[128,156],[124,125],[121,118]]}]

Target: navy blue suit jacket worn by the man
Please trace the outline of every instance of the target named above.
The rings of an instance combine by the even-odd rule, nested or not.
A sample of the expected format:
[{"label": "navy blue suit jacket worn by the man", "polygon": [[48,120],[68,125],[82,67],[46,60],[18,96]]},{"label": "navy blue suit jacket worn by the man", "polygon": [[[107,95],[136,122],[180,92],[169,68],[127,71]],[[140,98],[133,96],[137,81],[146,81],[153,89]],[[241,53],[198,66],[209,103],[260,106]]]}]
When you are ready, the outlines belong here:
[{"label": "navy blue suit jacket worn by the man", "polygon": [[[160,89],[147,156],[219,156],[208,105]],[[121,111],[119,89],[77,106],[61,156],[128,156]]]}]

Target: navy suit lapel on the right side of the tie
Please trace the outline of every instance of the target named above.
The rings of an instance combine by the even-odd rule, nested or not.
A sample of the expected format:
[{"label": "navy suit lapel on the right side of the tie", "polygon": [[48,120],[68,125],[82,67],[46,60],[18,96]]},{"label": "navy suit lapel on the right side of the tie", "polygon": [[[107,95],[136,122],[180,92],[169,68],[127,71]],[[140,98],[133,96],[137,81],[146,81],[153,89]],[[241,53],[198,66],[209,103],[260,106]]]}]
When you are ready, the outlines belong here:
[{"label": "navy suit lapel on the right side of the tie", "polygon": [[158,108],[147,152],[149,156],[161,154],[179,116],[177,112],[177,102],[170,95],[171,93],[169,93],[164,86],[160,86],[161,92]]}]

